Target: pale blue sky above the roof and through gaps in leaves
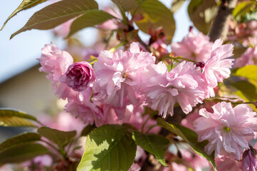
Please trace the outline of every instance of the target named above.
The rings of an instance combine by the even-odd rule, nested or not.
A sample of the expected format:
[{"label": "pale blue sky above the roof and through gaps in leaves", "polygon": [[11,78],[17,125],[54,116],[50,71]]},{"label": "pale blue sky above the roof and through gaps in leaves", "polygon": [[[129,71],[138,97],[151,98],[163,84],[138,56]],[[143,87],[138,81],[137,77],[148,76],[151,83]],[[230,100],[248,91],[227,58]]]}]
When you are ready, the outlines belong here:
[{"label": "pale blue sky above the roof and through gaps in leaves", "polygon": [[[100,8],[110,4],[110,0],[97,0],[100,4]],[[170,7],[172,0],[161,0],[166,6]],[[0,26],[4,24],[4,21],[8,16],[16,9],[21,3],[21,0],[5,1],[4,5],[0,7]],[[46,2],[47,3],[47,2]],[[5,26],[3,31],[0,31],[0,83],[17,73],[20,73],[27,68],[37,63],[36,58],[41,55],[41,48],[51,41],[56,43],[59,48],[62,48],[63,41],[53,37],[51,31],[26,31],[20,33],[9,41],[9,37],[12,33],[19,30],[29,17],[39,9],[46,6],[46,3],[40,4],[32,9],[21,11],[19,14],[14,16]],[[179,11],[174,15],[177,24],[177,30],[175,32],[173,41],[181,41],[183,36],[187,35],[189,26],[192,22],[187,16],[187,1]],[[92,40],[97,36],[96,31],[93,28],[86,28],[79,32],[83,38],[83,43],[86,46],[90,46],[94,43]],[[143,36],[143,39],[147,39]]]}]

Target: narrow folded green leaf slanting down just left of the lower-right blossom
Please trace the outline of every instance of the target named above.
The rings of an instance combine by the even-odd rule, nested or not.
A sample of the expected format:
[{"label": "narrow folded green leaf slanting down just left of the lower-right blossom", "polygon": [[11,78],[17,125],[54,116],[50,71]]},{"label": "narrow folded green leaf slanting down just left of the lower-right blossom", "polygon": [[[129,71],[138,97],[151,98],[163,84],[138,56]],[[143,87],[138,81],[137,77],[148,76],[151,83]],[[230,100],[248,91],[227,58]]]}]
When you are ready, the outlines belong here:
[{"label": "narrow folded green leaf slanting down just left of the lower-right blossom", "polygon": [[169,130],[170,132],[179,135],[179,137],[187,141],[189,145],[192,147],[192,149],[202,157],[205,157],[207,160],[209,160],[209,162],[211,162],[212,167],[214,167],[214,170],[216,170],[214,153],[211,155],[207,155],[206,152],[204,152],[204,146],[208,144],[208,140],[198,142],[197,134],[193,130],[190,130],[189,128],[186,128],[182,125],[167,123],[162,118],[158,118],[157,123],[162,128],[165,128],[166,130]]}]

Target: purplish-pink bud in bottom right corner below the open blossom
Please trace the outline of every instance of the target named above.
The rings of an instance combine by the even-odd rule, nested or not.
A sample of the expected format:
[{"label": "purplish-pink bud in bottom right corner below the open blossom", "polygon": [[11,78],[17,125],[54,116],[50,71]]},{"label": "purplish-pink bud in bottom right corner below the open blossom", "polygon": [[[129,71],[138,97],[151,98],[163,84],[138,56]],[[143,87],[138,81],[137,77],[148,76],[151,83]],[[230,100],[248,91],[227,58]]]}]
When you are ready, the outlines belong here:
[{"label": "purplish-pink bud in bottom right corner below the open blossom", "polygon": [[257,170],[257,152],[254,148],[243,152],[243,171],[256,171]]}]

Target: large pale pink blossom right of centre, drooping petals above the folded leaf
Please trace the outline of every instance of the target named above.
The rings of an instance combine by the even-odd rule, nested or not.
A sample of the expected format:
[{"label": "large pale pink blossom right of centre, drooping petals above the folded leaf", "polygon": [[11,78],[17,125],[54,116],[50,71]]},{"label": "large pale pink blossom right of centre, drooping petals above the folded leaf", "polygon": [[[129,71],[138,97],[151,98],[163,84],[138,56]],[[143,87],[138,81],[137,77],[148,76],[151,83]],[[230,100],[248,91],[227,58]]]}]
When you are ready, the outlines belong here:
[{"label": "large pale pink blossom right of centre, drooping petals above the folded leaf", "polygon": [[167,113],[173,115],[175,103],[179,103],[184,113],[189,113],[205,97],[206,83],[201,78],[201,69],[191,62],[179,63],[170,72],[159,62],[147,66],[142,78],[140,88],[147,95],[147,102],[163,117]]}]

